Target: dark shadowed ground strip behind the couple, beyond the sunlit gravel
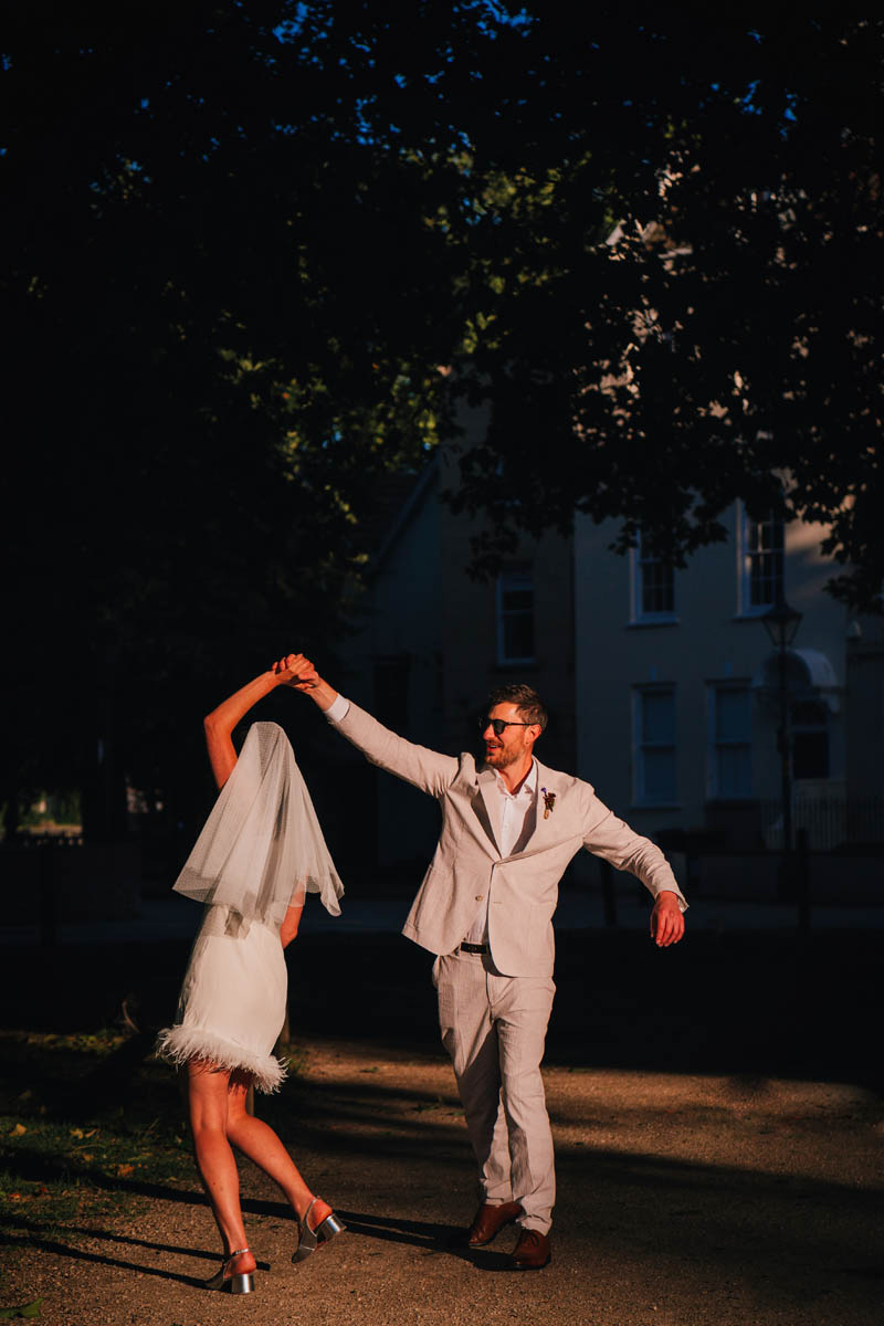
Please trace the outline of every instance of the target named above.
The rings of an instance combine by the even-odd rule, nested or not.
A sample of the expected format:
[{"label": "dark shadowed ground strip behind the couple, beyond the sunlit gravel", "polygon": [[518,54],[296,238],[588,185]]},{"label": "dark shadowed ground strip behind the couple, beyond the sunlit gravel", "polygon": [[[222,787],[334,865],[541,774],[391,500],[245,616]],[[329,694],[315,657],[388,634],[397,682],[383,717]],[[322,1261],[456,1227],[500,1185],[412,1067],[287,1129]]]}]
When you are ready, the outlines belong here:
[{"label": "dark shadowed ground strip behind the couple, beyond the sunlit gravel", "polygon": [[[795,1077],[880,1087],[880,937],[872,932],[691,935],[565,931],[547,1063]],[[7,1025],[109,1025],[123,998],[144,1036],[171,1021],[187,943],[0,949]],[[368,1037],[437,1048],[431,955],[398,935],[313,935],[289,949],[293,1040]],[[130,1048],[126,1055],[137,1057]],[[95,1091],[118,1089],[103,1065]]]}]

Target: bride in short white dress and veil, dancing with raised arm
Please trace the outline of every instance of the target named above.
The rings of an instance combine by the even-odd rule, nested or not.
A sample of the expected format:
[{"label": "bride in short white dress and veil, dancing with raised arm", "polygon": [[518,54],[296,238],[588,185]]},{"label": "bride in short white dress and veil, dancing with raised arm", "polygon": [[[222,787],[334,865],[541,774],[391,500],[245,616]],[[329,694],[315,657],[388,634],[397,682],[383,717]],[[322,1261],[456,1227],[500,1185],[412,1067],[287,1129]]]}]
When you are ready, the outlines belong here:
[{"label": "bride in short white dress and veil, dancing with raised arm", "polygon": [[250,1293],[256,1268],[243,1224],[237,1147],[278,1183],[298,1221],[293,1261],[345,1227],[315,1197],[276,1132],[247,1111],[250,1086],[274,1091],[285,1066],[272,1054],[286,1008],[282,949],[298,931],[305,894],[339,915],[341,879],[285,733],[249,729],[237,760],[231,735],[277,686],[300,687],[310,664],[289,655],[205,719],[205,741],[221,789],[175,888],[205,904],[182,985],[175,1025],[158,1053],[184,1065],[196,1166],[224,1244],[208,1289]]}]

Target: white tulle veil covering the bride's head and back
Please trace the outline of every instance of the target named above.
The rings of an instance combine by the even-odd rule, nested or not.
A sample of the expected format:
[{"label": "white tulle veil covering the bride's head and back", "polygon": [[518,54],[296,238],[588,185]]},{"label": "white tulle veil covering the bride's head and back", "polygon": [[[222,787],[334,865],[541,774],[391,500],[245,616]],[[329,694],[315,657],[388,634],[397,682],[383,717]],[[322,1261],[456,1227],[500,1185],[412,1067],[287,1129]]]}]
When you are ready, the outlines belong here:
[{"label": "white tulle veil covering the bride's head and back", "polygon": [[277,928],[307,892],[319,894],[326,911],[341,915],[343,884],[289,740],[276,723],[249,728],[175,890]]}]

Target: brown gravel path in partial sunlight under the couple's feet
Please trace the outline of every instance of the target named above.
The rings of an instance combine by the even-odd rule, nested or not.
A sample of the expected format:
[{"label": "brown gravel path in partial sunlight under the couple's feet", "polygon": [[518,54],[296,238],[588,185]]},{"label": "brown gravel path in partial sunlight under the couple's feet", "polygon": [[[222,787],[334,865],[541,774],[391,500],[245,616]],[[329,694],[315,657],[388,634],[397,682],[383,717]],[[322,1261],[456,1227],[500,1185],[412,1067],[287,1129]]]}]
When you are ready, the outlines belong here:
[{"label": "brown gravel path in partial sunlight under the couple's feet", "polygon": [[567,1323],[880,1326],[876,1098],[856,1086],[553,1067],[554,1257],[516,1233],[447,1248],[476,1203],[441,1052],[311,1040],[284,1089],[286,1140],[349,1232],[300,1266],[278,1193],[243,1166],[256,1294],[207,1294],[216,1235],[196,1183],[7,1249],[3,1301],[50,1326]]}]

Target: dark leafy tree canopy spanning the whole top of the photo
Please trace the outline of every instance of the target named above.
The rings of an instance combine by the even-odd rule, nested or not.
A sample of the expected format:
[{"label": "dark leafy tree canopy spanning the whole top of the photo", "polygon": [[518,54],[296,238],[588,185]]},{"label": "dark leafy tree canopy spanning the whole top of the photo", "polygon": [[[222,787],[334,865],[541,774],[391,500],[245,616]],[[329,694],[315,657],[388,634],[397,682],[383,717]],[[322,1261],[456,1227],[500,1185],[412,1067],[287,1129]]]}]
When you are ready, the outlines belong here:
[{"label": "dark leafy tree canopy spanning the whole top of the photo", "polygon": [[13,7],[8,784],[77,776],[109,693],[138,777],[207,672],[330,642],[376,479],[453,434],[452,385],[493,406],[455,499],[492,516],[482,556],[578,509],[679,560],[742,497],[831,524],[838,593],[876,603],[883,32]]}]

